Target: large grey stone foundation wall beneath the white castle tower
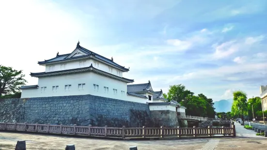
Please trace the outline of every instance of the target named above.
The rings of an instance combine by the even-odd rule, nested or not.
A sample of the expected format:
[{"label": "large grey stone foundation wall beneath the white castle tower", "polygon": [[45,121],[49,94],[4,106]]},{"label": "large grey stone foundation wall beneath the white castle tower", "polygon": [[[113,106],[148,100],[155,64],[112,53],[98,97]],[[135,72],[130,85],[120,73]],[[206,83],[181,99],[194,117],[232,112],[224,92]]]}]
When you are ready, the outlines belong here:
[{"label": "large grey stone foundation wall beneath the white castle tower", "polygon": [[147,104],[93,95],[0,100],[0,122],[154,127]]}]

